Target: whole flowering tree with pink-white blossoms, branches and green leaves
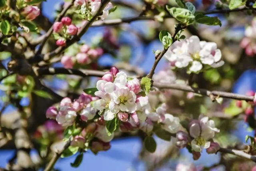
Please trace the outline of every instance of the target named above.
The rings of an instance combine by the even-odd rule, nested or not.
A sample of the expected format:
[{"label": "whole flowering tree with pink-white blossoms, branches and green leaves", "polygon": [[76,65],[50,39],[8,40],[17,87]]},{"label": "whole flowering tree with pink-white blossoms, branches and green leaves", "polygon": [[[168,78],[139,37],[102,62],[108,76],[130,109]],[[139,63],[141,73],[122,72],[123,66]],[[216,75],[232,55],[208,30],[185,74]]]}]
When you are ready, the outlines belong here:
[{"label": "whole flowering tree with pink-white blossoms, branches and green leaves", "polygon": [[[237,170],[242,164],[238,170],[256,169],[256,139],[244,135],[241,145],[231,134],[238,119],[256,129],[255,92],[229,93],[244,70],[255,68],[250,58],[256,54],[255,1],[138,2],[65,0],[52,23],[42,14],[42,0],[0,0],[0,112],[8,105],[16,108],[0,120],[0,147],[16,149],[7,170],[50,171],[58,159],[76,154],[71,166],[79,167],[86,152],[96,155],[110,149],[112,139],[130,136],[142,140],[141,158],[150,161],[149,170],[177,158],[183,148],[194,160],[204,149],[221,159],[204,168],[180,163],[177,171],[220,165]],[[127,8],[133,17],[120,18]],[[238,19],[248,25],[244,38],[228,38],[224,32]],[[150,20],[149,31],[142,34],[130,26],[138,20]],[[106,26],[104,33],[84,42],[82,36],[99,26]],[[148,57],[129,54],[130,46],[118,41],[124,32],[141,44],[159,37],[162,48],[151,49],[155,58],[148,73],[129,63],[132,55],[142,63]],[[106,54],[119,62],[100,65]],[[155,73],[160,60],[167,67]],[[158,139],[168,145],[156,157]],[[38,151],[37,161],[31,149]],[[157,160],[148,159],[148,153]]]}]

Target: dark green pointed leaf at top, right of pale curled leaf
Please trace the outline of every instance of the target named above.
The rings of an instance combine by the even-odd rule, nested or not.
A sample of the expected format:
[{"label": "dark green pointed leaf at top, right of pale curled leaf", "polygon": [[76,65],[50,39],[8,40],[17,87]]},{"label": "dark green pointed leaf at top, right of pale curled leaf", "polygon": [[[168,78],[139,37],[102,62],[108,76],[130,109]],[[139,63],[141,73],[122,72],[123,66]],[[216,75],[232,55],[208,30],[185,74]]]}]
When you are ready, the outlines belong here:
[{"label": "dark green pointed leaf at top, right of pale curled leaf", "polygon": [[221,21],[218,17],[209,17],[205,16],[202,13],[196,14],[196,22],[200,24],[206,24],[210,26],[220,26],[221,27]]}]

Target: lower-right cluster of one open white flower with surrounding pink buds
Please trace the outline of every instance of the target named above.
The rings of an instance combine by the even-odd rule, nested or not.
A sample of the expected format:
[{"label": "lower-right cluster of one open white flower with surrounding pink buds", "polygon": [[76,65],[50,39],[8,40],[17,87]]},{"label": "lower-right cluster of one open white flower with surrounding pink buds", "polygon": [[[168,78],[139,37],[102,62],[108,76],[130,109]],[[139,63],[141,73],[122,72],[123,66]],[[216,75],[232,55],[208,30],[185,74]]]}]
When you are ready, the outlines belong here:
[{"label": "lower-right cluster of one open white flower with surrounding pink buds", "polygon": [[220,145],[212,141],[215,132],[220,131],[215,127],[213,120],[200,115],[198,120],[190,121],[188,129],[189,133],[184,131],[176,133],[176,147],[181,149],[190,144],[194,160],[200,158],[202,149],[206,149],[209,154],[216,153],[220,149]]}]

